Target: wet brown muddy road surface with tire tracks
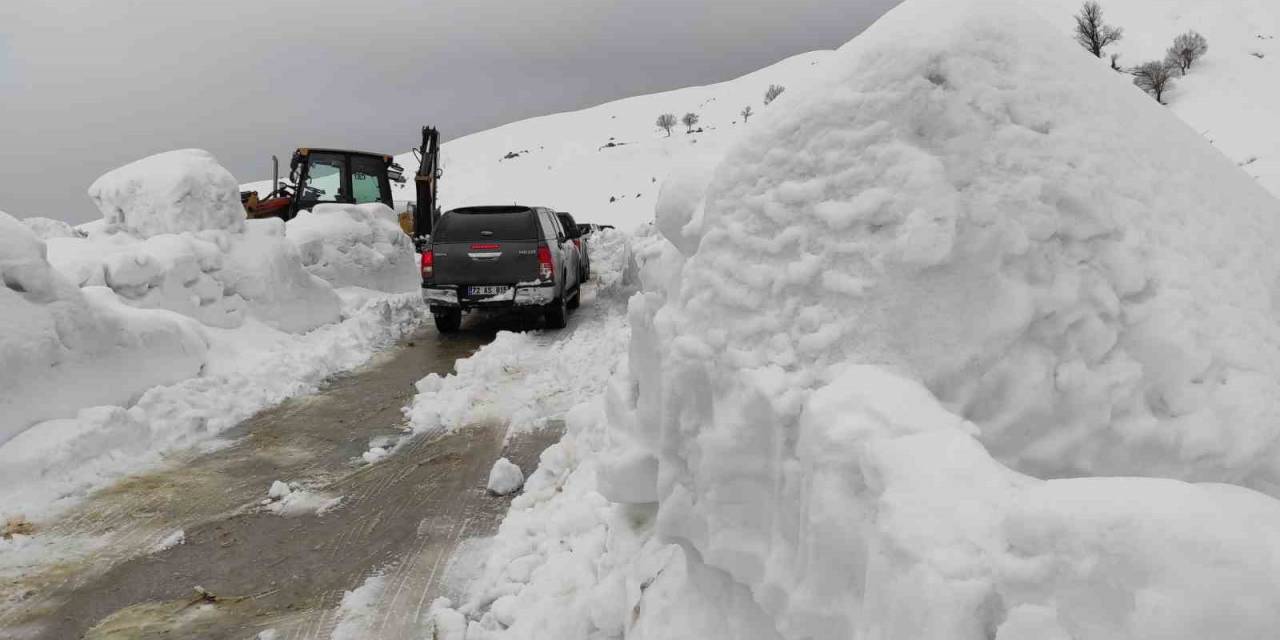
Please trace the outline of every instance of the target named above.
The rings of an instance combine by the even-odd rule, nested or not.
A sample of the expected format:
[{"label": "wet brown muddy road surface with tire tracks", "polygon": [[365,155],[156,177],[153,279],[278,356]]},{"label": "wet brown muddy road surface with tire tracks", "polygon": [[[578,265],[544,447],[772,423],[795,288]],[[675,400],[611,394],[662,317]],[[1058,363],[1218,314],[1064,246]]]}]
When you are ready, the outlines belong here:
[{"label": "wet brown muddy road surface with tire tracks", "polygon": [[[74,553],[0,579],[0,637],[244,640],[274,628],[280,640],[326,639],[343,593],[374,573],[387,582],[376,637],[412,636],[458,545],[492,535],[506,513],[509,499],[485,492],[493,462],[506,456],[527,474],[559,431],[508,440],[504,425],[472,425],[408,440],[374,465],[361,454],[402,435],[415,381],[451,372],[512,323],[421,329],[320,393],[246,421],[230,444],[97,492],[37,532]],[[262,503],[275,480],[315,504],[337,502],[278,513]]]}]

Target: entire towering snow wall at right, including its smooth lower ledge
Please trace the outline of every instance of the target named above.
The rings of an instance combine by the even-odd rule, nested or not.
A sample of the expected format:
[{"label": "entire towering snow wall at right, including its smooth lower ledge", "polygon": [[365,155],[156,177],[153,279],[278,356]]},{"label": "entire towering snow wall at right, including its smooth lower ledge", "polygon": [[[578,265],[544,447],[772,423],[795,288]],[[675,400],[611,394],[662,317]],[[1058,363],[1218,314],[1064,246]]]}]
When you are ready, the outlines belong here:
[{"label": "entire towering snow wall at right, including its smooth lower ledge", "polygon": [[1059,31],[909,0],[659,204],[600,489],[783,637],[1280,623],[1280,503],[1181,481],[1275,486],[1280,205]]}]

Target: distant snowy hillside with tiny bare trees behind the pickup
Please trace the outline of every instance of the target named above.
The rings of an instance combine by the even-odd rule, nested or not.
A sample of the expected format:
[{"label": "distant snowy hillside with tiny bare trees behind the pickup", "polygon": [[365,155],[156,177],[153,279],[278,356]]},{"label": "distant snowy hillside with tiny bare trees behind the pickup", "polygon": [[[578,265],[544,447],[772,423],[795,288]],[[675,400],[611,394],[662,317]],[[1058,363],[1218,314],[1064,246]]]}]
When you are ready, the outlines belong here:
[{"label": "distant snowy hillside with tiny bare trees behind the pickup", "polygon": [[[753,123],[742,122],[742,108],[753,108],[754,120],[771,109],[763,105],[769,84],[792,88],[829,54],[814,51],[719,84],[532,118],[448,141],[442,146],[440,206],[521,202],[570,211],[582,223],[631,228],[649,221],[668,174],[686,159],[718,156],[749,137]],[[677,124],[667,137],[654,124],[666,113],[677,119],[696,113],[695,131],[701,132],[690,134]],[[417,168],[412,154],[397,161],[408,172]],[[412,182],[396,193],[397,200],[413,197]]]}]

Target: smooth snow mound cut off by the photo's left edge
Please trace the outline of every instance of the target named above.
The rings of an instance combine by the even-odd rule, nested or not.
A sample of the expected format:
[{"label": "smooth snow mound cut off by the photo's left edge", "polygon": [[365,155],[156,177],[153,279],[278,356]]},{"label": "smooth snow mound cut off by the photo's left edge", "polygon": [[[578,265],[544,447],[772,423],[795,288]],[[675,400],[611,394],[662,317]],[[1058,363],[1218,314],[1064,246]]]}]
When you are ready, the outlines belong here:
[{"label": "smooth snow mound cut off by the photo's left edge", "polygon": [[0,214],[0,443],[31,425],[195,376],[200,325],[79,289],[45,259],[45,243]]}]

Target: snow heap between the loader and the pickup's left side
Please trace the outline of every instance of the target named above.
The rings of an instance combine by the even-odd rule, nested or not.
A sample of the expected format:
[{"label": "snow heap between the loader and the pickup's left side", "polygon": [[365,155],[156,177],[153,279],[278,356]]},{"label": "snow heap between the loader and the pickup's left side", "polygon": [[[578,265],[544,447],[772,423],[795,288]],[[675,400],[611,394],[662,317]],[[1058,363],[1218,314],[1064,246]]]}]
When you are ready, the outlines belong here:
[{"label": "snow heap between the loader and the pickup's left side", "polygon": [[287,228],[307,271],[334,287],[401,293],[422,285],[413,242],[387,205],[317,205]]}]

